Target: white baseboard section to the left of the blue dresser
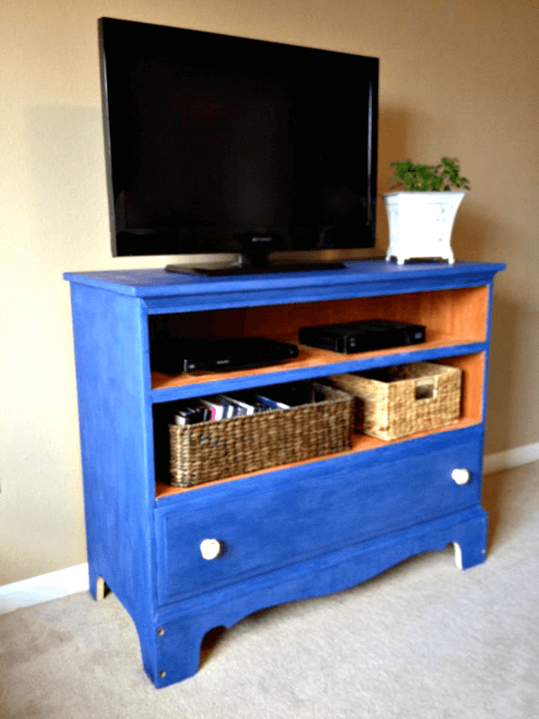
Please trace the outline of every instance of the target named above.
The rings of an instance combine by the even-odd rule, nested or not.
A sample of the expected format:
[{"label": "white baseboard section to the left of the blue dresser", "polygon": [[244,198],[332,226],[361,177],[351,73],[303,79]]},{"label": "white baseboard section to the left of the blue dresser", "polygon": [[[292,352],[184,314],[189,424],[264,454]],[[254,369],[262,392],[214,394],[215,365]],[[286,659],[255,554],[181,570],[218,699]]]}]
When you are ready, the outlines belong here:
[{"label": "white baseboard section to the left of the blue dresser", "polygon": [[0,587],[0,614],[88,590],[88,564],[41,574]]}]

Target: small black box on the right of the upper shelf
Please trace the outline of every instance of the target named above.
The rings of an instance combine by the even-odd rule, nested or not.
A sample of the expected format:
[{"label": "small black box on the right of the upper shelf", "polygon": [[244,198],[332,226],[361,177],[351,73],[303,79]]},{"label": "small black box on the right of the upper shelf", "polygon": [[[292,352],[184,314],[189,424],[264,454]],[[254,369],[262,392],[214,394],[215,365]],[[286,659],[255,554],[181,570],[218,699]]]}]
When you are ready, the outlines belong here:
[{"label": "small black box on the right of the upper shelf", "polygon": [[323,350],[352,354],[425,342],[425,326],[390,320],[301,327],[299,342]]}]

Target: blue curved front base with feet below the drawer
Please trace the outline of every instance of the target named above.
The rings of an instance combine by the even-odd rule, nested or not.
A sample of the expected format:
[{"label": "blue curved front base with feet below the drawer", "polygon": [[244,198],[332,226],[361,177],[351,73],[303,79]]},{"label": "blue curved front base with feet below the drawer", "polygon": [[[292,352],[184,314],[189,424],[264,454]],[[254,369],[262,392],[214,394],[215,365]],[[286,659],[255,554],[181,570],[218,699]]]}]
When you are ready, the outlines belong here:
[{"label": "blue curved front base with feet below the drawer", "polygon": [[486,513],[474,507],[165,608],[157,618],[163,631],[157,643],[160,669],[150,676],[157,688],[187,679],[199,669],[199,646],[210,629],[233,626],[261,608],[349,589],[413,555],[456,544],[464,569],[481,564],[486,537]]}]

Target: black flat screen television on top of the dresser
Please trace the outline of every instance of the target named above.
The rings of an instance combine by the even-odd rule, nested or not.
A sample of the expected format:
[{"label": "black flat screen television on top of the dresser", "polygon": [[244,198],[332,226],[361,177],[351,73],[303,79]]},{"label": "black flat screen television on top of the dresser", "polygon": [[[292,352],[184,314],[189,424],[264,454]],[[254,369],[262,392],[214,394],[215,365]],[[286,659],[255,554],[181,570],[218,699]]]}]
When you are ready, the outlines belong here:
[{"label": "black flat screen television on top of the dresser", "polygon": [[377,58],[112,18],[99,40],[114,256],[375,245]]}]

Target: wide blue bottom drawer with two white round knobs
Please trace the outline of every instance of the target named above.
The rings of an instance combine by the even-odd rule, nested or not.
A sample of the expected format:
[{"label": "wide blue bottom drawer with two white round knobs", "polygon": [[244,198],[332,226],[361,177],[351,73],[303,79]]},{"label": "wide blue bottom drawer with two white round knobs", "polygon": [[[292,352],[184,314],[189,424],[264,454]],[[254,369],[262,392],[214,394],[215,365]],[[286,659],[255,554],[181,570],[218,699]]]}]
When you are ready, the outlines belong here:
[{"label": "wide blue bottom drawer with two white round knobs", "polygon": [[478,504],[481,439],[447,434],[461,441],[434,435],[173,497],[156,510],[160,603]]}]

